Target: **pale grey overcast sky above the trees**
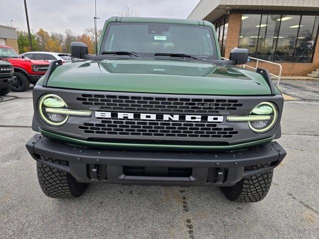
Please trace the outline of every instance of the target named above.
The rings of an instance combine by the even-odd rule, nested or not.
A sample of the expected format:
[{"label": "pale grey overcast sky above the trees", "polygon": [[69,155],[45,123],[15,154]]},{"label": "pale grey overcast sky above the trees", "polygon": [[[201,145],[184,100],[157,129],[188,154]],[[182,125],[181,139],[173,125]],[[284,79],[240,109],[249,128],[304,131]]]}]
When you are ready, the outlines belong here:
[{"label": "pale grey overcast sky above the trees", "polygon": [[[141,16],[186,18],[199,0],[96,0],[98,28],[104,21],[119,15],[129,4]],[[66,28],[80,34],[93,27],[94,0],[27,0],[31,31],[40,27],[46,31],[64,32]],[[0,0],[0,24],[10,24],[26,30],[23,0]]]}]

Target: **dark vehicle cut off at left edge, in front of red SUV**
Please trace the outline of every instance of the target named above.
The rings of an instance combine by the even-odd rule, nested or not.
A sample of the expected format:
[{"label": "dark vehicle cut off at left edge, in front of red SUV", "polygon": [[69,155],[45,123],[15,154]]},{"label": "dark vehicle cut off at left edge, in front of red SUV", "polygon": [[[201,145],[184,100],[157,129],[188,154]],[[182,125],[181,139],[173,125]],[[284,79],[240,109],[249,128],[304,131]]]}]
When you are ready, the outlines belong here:
[{"label": "dark vehicle cut off at left edge, in front of red SUV", "polygon": [[11,91],[13,76],[13,66],[8,61],[0,60],[0,96],[5,96]]}]

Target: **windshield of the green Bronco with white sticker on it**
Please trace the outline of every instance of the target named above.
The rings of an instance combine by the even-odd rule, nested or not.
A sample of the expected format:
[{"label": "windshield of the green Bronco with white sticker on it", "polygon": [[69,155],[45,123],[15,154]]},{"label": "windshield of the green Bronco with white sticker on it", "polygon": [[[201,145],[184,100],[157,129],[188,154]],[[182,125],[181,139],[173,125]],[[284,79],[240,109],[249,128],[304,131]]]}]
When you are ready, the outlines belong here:
[{"label": "windshield of the green Bronco with white sticker on it", "polygon": [[217,60],[212,29],[172,23],[112,22],[106,29],[101,52],[129,51],[142,56],[154,53],[187,54]]}]

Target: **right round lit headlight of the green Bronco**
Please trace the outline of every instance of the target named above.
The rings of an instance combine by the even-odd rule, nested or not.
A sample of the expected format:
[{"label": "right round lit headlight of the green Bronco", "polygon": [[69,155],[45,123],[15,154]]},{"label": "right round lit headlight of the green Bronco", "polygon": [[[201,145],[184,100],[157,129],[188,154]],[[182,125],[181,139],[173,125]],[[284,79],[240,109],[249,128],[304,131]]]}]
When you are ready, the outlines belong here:
[{"label": "right round lit headlight of the green Bronco", "polygon": [[249,127],[257,133],[269,131],[277,122],[278,110],[277,107],[270,102],[260,103],[252,110],[251,116],[269,116],[267,120],[248,121]]}]

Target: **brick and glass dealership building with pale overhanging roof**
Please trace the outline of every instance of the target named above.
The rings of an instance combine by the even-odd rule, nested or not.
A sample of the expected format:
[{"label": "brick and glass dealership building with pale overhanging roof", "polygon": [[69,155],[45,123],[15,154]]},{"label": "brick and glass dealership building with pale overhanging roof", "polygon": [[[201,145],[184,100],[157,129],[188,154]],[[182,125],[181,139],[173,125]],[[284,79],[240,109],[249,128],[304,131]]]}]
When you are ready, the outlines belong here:
[{"label": "brick and glass dealership building with pale overhanging roof", "polygon": [[[225,58],[238,47],[280,63],[283,76],[307,76],[319,68],[319,0],[200,0],[188,19],[214,24]],[[265,62],[259,67],[279,71]]]}]

